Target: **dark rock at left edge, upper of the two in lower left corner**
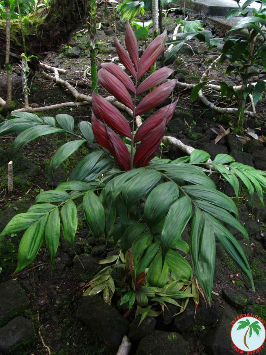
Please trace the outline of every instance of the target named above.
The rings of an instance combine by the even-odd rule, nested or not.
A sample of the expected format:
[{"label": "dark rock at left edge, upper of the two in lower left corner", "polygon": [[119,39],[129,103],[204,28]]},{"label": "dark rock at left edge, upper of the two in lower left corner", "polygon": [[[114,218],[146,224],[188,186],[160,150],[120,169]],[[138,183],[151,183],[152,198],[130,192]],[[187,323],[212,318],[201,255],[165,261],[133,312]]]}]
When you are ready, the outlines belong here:
[{"label": "dark rock at left edge, upper of the two in lower left corner", "polygon": [[29,300],[16,280],[0,284],[0,305],[0,326],[22,315],[29,306]]}]

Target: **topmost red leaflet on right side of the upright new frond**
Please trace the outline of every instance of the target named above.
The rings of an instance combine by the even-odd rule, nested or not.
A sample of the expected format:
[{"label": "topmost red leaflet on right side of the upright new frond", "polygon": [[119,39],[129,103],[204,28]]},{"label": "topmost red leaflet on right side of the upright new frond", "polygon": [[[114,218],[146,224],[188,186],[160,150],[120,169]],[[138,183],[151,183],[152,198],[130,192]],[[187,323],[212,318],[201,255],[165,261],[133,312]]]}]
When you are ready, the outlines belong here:
[{"label": "topmost red leaflet on right side of the upright new frond", "polygon": [[[139,60],[139,67],[137,73],[137,80],[143,76],[144,73],[153,65],[158,56],[162,53],[165,47],[166,30],[164,33],[156,37],[144,50],[143,55]],[[118,54],[119,55],[119,54]]]}]

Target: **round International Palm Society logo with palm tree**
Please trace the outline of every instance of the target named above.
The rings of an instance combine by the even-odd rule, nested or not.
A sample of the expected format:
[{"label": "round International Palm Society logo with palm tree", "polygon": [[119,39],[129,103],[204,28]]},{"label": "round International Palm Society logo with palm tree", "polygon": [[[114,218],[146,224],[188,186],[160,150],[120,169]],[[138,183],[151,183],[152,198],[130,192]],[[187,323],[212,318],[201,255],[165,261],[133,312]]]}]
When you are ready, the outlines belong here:
[{"label": "round International Palm Society logo with palm tree", "polygon": [[254,313],[244,313],[234,318],[231,322],[234,351],[246,355],[260,353],[265,347],[265,321]]}]

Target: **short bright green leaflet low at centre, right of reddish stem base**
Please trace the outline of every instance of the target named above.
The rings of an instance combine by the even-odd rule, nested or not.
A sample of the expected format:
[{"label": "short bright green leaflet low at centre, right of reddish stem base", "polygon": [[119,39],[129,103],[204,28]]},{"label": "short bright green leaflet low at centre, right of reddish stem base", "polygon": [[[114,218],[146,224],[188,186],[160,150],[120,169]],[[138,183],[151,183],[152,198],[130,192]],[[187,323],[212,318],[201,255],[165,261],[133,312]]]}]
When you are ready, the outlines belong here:
[{"label": "short bright green leaflet low at centre, right of reddish stem base", "polygon": [[165,261],[162,266],[162,253],[159,252],[150,264],[147,273],[147,282],[149,286],[164,287],[167,283],[168,273],[169,269],[167,262]]}]

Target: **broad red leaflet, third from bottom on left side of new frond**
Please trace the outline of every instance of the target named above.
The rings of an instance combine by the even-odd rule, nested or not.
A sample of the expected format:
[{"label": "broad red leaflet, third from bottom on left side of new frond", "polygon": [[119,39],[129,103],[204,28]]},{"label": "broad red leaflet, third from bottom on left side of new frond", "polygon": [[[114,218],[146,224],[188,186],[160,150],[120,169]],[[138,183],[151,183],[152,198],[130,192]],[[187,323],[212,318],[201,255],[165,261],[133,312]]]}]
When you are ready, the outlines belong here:
[{"label": "broad red leaflet, third from bottom on left side of new frond", "polygon": [[130,126],[121,112],[95,92],[92,93],[92,109],[94,115],[99,120],[104,121],[107,125],[119,133],[122,133],[124,136],[131,138]]}]

